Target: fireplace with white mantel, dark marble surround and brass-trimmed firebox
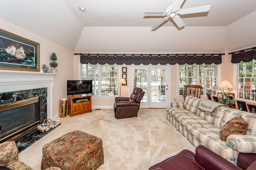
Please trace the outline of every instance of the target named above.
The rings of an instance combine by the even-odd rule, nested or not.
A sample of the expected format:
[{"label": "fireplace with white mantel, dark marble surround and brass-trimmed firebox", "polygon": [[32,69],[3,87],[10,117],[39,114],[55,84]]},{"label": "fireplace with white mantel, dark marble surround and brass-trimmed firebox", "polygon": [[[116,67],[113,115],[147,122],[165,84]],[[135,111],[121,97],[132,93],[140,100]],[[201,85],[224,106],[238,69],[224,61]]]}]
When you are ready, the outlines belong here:
[{"label": "fireplace with white mantel, dark marble surround and brass-trimmed firebox", "polygon": [[[35,129],[45,118],[52,119],[55,75],[0,70],[0,143]],[[6,130],[9,126],[11,130]]]}]

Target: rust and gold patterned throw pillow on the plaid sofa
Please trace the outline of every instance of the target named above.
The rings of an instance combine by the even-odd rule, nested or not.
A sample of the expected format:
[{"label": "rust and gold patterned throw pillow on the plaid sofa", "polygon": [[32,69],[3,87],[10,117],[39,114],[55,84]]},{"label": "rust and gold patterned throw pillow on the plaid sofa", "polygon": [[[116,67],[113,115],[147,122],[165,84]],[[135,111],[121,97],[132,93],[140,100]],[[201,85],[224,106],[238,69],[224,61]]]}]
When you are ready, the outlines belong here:
[{"label": "rust and gold patterned throw pillow on the plaid sofa", "polygon": [[232,134],[244,135],[248,123],[242,118],[242,116],[234,117],[220,129],[220,138],[222,141],[226,141],[227,137]]}]

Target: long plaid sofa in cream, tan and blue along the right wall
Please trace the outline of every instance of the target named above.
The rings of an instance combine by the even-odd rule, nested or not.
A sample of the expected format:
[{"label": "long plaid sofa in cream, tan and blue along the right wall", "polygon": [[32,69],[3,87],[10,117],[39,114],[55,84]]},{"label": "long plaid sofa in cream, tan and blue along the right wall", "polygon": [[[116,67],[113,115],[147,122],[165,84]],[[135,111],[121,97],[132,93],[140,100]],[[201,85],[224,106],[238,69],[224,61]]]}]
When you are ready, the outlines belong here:
[{"label": "long plaid sofa in cream, tan and blue along the right wall", "polygon": [[[195,147],[204,145],[236,164],[239,152],[256,153],[256,114],[220,106],[213,115],[203,112],[203,100],[187,96],[185,102],[172,102],[166,107],[168,119]],[[230,119],[242,116],[249,126],[244,135],[229,135],[220,139],[220,129]]]}]

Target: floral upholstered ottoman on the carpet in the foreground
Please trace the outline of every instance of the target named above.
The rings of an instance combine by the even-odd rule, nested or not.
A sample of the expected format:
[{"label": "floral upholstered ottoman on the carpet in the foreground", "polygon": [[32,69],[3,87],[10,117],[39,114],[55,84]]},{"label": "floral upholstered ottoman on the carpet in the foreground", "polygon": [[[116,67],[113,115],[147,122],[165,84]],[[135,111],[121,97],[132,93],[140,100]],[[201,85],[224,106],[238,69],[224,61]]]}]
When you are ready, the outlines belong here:
[{"label": "floral upholstered ottoman on the carpet in the foreground", "polygon": [[42,152],[41,170],[96,170],[104,164],[102,139],[78,130],[47,143]]}]

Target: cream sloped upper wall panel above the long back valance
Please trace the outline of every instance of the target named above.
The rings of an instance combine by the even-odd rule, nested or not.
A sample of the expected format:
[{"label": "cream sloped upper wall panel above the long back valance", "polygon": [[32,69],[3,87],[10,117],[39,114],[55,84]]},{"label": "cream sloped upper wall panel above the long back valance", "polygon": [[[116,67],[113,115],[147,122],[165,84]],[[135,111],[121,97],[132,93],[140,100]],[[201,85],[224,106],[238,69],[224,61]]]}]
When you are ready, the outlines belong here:
[{"label": "cream sloped upper wall panel above the long back valance", "polygon": [[[222,52],[226,27],[84,27],[76,52],[184,53]],[[82,49],[86,48],[86,51]]]}]

